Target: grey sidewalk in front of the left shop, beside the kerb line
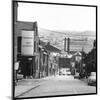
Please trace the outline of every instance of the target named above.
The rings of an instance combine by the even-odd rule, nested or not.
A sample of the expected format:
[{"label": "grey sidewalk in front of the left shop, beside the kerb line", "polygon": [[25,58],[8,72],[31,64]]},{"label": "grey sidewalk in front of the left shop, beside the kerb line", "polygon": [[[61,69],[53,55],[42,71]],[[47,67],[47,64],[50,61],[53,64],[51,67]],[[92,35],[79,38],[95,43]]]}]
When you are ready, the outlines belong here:
[{"label": "grey sidewalk in front of the left shop, beside the kerb line", "polygon": [[44,77],[44,78],[40,78],[40,79],[19,80],[17,83],[17,86],[15,86],[15,97],[23,95],[24,93],[27,93],[31,89],[34,89],[34,88],[40,86],[43,82],[45,82],[47,79],[50,79],[50,78],[52,78],[52,76]]}]

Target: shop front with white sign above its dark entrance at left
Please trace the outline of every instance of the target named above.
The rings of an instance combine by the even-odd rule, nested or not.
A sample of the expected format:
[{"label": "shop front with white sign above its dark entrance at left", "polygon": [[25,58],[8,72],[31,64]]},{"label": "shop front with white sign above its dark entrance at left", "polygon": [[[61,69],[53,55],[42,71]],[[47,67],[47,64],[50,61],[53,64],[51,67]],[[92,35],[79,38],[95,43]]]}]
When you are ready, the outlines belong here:
[{"label": "shop front with white sign above its dark entrance at left", "polygon": [[17,60],[20,61],[20,69],[24,78],[38,77],[38,40],[36,32],[31,29],[21,29],[21,35],[17,37]]}]

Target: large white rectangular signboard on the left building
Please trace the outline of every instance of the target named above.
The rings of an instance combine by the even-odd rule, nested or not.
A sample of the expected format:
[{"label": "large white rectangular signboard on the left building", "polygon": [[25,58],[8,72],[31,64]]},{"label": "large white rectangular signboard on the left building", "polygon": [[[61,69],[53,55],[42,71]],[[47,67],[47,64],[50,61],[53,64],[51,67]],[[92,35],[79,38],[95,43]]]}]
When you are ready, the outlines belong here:
[{"label": "large white rectangular signboard on the left building", "polygon": [[34,53],[34,31],[22,30],[21,54],[33,56]]}]

